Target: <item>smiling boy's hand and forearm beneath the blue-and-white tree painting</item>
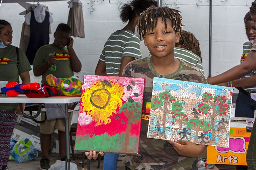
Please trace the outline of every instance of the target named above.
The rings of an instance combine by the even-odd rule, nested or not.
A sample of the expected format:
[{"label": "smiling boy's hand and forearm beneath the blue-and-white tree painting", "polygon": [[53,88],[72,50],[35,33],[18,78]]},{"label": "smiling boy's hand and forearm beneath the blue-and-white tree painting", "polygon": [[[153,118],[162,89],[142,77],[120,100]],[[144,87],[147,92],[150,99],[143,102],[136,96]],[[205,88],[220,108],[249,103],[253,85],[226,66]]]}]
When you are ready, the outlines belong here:
[{"label": "smiling boy's hand and forearm beneath the blue-and-white tree painting", "polygon": [[207,148],[207,145],[197,145],[190,141],[176,140],[169,142],[175,151],[181,156],[196,157],[199,156]]}]

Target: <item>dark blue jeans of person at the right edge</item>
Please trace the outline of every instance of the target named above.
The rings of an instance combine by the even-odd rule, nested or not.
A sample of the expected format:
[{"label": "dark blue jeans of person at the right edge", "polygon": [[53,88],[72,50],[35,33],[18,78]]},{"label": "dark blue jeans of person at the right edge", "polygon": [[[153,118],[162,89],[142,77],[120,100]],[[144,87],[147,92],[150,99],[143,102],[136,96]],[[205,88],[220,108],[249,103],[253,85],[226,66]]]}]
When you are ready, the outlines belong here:
[{"label": "dark blue jeans of person at the right edge", "polygon": [[239,91],[236,101],[235,117],[254,117],[256,101]]}]

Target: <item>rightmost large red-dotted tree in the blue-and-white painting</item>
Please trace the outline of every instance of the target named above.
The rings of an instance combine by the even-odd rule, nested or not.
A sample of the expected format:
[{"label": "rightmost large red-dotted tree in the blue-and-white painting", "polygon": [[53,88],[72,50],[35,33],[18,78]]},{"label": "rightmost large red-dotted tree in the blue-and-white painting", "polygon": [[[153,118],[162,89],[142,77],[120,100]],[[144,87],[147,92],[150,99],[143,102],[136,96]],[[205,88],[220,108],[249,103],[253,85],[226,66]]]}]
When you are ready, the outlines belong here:
[{"label": "rightmost large red-dotted tree in the blue-and-white painting", "polygon": [[202,103],[198,104],[197,111],[202,115],[208,115],[211,121],[212,142],[215,142],[215,118],[217,115],[226,116],[228,110],[225,96],[213,96],[210,92],[202,95]]}]

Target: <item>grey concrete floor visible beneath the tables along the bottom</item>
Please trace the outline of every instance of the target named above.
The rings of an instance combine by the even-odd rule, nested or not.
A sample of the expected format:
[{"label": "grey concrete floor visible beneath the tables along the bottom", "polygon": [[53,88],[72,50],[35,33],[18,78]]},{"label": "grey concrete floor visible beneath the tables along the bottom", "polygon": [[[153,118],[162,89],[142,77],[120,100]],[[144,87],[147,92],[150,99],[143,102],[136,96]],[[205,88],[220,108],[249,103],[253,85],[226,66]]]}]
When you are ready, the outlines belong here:
[{"label": "grey concrete floor visible beneath the tables along the bottom", "polygon": [[[9,161],[8,168],[10,170],[40,170],[41,154],[32,161],[17,163],[16,161]],[[53,165],[58,159],[57,154],[50,155],[50,166]],[[120,158],[122,159],[122,158]],[[75,160],[71,157],[71,162],[77,165],[78,170],[87,170],[87,159],[85,159],[85,169],[82,168],[82,155],[75,155]],[[100,168],[97,168],[98,160],[90,160],[90,170],[103,170],[103,160],[100,162]],[[125,170],[125,166],[122,162],[118,161],[117,170]]]}]

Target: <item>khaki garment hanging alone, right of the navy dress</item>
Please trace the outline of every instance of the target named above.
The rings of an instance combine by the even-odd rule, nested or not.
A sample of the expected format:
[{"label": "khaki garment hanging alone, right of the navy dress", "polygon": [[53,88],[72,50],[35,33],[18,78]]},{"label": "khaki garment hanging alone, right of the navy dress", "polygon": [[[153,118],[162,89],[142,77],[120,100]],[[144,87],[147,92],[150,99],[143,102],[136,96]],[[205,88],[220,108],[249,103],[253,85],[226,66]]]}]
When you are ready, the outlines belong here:
[{"label": "khaki garment hanging alone, right of the navy dress", "polygon": [[[84,17],[83,17],[83,6],[82,3],[74,2],[77,0],[71,0],[72,7],[69,10],[68,25],[71,27],[71,36],[74,37],[85,37],[84,33]],[[79,1],[79,0],[78,0]],[[68,3],[69,3],[68,2]]]}]

